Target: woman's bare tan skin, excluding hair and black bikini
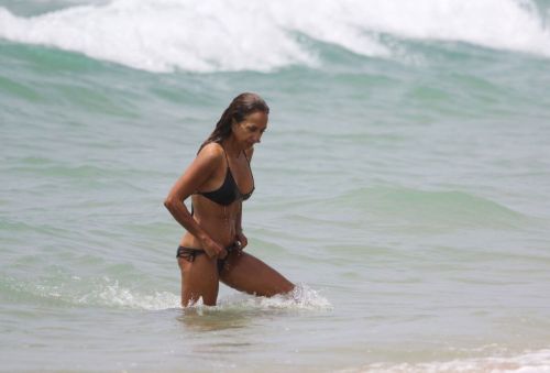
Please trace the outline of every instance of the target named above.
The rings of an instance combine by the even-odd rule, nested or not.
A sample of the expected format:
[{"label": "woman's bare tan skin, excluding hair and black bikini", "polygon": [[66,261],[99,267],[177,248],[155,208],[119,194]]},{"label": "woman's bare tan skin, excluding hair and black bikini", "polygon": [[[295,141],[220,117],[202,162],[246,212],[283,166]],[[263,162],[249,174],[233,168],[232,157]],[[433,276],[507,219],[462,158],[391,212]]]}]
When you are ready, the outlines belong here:
[{"label": "woman's bare tan skin, excluding hair and black bikini", "polygon": [[[197,255],[193,262],[178,257],[183,307],[193,305],[200,298],[205,305],[215,306],[219,281],[238,290],[258,296],[273,296],[294,289],[294,284],[277,271],[242,251],[248,245],[248,239],[241,227],[241,200],[221,206],[195,194],[218,189],[226,178],[228,162],[239,189],[243,194],[252,190],[254,180],[246,157],[252,158],[253,146],[260,143],[267,128],[267,119],[265,112],[256,111],[246,116],[242,122],[233,121],[230,136],[221,145],[209,143],[202,147],[174,184],[164,202],[187,231],[179,244],[206,252],[206,255]],[[246,152],[246,157],[243,152]],[[183,202],[189,196],[195,208],[193,217]],[[235,241],[241,243],[240,250],[228,254],[224,248]],[[217,261],[226,256],[226,265],[218,273]]]}]

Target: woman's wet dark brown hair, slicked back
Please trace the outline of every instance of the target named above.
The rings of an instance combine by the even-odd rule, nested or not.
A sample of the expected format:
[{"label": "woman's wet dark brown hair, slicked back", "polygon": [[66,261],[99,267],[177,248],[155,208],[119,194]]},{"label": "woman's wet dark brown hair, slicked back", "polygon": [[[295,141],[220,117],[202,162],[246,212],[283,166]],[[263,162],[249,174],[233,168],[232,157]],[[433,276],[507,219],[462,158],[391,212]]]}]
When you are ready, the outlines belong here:
[{"label": "woman's wet dark brown hair, slicked back", "polygon": [[270,107],[263,98],[256,94],[244,92],[237,96],[229,107],[221,114],[220,120],[216,123],[216,128],[208,139],[200,145],[199,152],[205,145],[211,142],[222,142],[231,135],[231,125],[233,121],[242,122],[248,116],[262,111],[270,113]]}]

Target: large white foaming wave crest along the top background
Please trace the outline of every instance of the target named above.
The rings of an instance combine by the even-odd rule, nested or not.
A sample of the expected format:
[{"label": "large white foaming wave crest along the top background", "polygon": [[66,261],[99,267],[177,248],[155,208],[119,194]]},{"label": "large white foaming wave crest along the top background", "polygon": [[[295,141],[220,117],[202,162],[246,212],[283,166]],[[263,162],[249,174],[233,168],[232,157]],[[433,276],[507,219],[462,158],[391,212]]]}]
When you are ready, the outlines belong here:
[{"label": "large white foaming wave crest along the top background", "polygon": [[0,37],[152,72],[316,65],[294,32],[365,56],[403,55],[380,33],[550,56],[550,30],[529,0],[113,0],[34,18],[0,8]]}]

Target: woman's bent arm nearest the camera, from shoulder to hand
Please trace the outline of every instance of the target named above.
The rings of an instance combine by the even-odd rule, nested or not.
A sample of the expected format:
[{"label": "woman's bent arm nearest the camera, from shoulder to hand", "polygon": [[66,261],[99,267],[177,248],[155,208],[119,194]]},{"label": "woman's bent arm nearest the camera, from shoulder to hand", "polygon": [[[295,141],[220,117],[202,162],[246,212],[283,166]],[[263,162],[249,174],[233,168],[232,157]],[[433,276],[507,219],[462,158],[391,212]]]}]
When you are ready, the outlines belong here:
[{"label": "woman's bent arm nearest the camera, from shoulder to hand", "polygon": [[218,146],[205,146],[185,173],[176,180],[164,201],[164,206],[174,219],[200,241],[202,249],[209,256],[224,256],[226,250],[215,242],[197,223],[189,213],[184,200],[196,190],[199,190],[202,184],[213,175],[220,162],[223,161],[222,157],[223,153]]}]

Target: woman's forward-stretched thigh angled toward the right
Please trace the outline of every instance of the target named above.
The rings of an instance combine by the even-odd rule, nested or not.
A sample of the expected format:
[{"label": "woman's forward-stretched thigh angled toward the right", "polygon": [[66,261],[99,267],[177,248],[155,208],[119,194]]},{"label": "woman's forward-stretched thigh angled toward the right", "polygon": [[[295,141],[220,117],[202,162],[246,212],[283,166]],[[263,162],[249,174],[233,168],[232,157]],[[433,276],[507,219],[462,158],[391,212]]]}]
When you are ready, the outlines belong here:
[{"label": "woman's forward-stretched thigh angled toward the right", "polygon": [[260,296],[271,297],[294,289],[294,284],[280,273],[243,251],[229,255],[220,278],[240,292]]}]

